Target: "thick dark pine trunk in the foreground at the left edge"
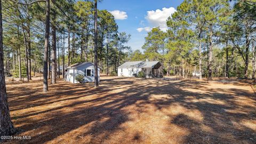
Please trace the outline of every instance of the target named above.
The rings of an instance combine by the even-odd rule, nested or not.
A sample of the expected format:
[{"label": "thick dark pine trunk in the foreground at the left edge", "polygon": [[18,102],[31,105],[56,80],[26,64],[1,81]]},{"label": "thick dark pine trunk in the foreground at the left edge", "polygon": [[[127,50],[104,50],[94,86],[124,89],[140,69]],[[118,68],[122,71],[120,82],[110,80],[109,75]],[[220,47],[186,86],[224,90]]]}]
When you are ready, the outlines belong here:
[{"label": "thick dark pine trunk in the foreground at the left edge", "polygon": [[[0,136],[14,134],[15,128],[11,121],[4,78],[4,50],[2,25],[2,0],[0,0]],[[2,139],[0,139],[0,142]]]}]

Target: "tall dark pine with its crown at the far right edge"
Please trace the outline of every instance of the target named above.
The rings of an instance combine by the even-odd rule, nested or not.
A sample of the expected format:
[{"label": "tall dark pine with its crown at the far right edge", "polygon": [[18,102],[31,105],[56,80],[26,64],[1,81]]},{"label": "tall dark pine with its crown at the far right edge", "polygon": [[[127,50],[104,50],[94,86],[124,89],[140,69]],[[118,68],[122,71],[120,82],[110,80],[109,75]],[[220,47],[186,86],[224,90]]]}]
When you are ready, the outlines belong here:
[{"label": "tall dark pine with its crown at the far right edge", "polygon": [[248,77],[250,46],[255,37],[256,1],[238,1],[234,6],[234,22],[232,42],[244,61],[244,78]]}]

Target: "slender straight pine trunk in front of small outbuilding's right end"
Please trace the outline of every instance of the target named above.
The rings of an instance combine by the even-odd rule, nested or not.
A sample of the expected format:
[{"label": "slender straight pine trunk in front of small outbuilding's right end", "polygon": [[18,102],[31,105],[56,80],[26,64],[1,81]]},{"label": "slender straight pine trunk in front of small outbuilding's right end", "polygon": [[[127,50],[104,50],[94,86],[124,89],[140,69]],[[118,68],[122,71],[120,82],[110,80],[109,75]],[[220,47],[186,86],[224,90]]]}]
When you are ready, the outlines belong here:
[{"label": "slender straight pine trunk in front of small outbuilding's right end", "polygon": [[98,30],[97,30],[97,0],[94,0],[94,87],[99,86],[98,81]]}]

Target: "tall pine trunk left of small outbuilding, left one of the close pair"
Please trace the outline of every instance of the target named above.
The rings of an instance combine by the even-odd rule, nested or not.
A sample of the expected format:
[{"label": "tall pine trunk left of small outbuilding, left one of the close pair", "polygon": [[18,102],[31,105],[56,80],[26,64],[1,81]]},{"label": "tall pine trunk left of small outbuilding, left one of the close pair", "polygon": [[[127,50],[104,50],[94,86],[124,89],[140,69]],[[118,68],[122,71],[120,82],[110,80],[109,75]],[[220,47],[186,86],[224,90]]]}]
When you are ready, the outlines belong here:
[{"label": "tall pine trunk left of small outbuilding, left one of the close pair", "polygon": [[45,41],[44,41],[44,85],[43,92],[48,91],[47,82],[47,60],[49,47],[49,32],[50,32],[50,0],[46,0],[46,20],[45,20]]}]

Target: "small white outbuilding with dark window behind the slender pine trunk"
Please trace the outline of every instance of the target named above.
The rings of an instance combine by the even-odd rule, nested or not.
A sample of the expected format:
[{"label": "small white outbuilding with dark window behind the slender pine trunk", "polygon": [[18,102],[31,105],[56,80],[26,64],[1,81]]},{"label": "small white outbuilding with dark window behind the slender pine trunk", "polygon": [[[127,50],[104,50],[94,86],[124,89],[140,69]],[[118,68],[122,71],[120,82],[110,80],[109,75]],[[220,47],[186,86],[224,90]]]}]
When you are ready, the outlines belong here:
[{"label": "small white outbuilding with dark window behind the slender pine trunk", "polygon": [[[98,81],[100,81],[100,67],[98,67]],[[71,83],[79,83],[75,77],[84,75],[84,83],[94,82],[94,64],[92,62],[75,63],[68,66],[65,73],[65,81]]]}]

